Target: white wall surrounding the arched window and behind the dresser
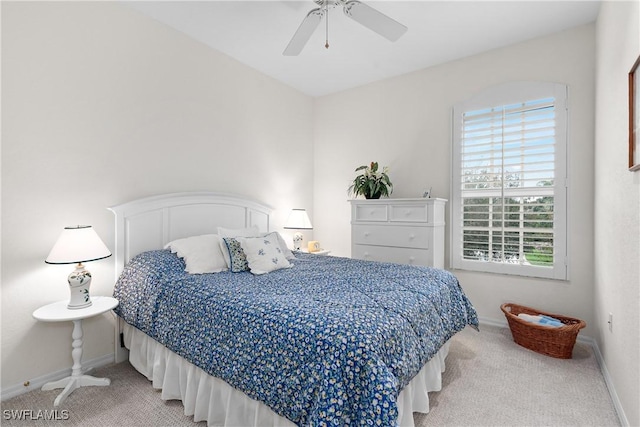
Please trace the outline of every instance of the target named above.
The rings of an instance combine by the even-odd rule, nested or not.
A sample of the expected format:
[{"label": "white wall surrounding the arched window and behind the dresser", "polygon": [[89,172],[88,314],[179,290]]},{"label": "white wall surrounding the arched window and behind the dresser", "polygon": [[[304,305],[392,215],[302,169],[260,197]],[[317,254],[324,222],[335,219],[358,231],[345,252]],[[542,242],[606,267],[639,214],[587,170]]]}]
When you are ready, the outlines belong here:
[{"label": "white wall surrounding the arched window and behind the dresser", "polygon": [[[390,166],[392,197],[420,197],[425,188],[433,187],[433,196],[449,199],[451,114],[456,103],[509,81],[565,83],[571,106],[571,280],[464,271],[456,275],[485,319],[504,322],[500,304],[513,301],[591,325],[594,31],[593,24],[581,26],[316,99],[314,238],[336,255],[350,255],[346,190],[355,177],[353,170],[372,160]],[[448,248],[448,232],[446,242]],[[593,334],[591,328],[585,332]]]}]

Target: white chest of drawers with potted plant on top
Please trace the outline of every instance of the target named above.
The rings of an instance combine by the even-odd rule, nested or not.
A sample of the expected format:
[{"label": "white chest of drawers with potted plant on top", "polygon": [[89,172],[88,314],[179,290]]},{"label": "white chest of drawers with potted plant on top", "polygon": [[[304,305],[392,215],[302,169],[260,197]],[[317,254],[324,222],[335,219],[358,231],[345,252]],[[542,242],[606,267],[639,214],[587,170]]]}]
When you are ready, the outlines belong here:
[{"label": "white chest of drawers with potted plant on top", "polygon": [[354,199],[351,257],[444,268],[445,199]]}]

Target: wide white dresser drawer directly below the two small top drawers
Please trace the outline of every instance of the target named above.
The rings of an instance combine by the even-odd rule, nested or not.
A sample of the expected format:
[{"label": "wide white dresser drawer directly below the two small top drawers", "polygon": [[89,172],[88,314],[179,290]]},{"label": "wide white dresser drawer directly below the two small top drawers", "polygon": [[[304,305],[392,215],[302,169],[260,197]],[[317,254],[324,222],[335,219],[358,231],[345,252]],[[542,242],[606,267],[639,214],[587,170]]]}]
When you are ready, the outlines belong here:
[{"label": "wide white dresser drawer directly below the two small top drawers", "polygon": [[428,249],[433,230],[427,227],[367,225],[351,226],[354,244]]}]

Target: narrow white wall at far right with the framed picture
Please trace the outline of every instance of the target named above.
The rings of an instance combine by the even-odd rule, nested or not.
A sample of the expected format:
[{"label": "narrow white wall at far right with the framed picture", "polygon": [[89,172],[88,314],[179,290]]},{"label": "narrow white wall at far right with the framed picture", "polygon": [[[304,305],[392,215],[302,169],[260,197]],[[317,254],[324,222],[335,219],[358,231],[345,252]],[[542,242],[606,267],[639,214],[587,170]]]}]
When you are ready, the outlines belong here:
[{"label": "narrow white wall at far right with the framed picture", "polygon": [[638,426],[640,171],[627,170],[627,74],[640,55],[640,2],[604,2],[596,29],[594,321],[627,421]]}]

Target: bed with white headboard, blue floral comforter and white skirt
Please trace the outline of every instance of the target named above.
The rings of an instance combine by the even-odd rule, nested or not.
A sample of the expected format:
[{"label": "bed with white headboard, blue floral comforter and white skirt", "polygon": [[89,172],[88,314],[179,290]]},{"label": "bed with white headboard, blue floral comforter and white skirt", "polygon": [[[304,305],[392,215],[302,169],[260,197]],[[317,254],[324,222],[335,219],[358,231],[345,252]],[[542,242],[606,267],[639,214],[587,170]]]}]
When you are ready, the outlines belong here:
[{"label": "bed with white headboard, blue floral comforter and white skirt", "polygon": [[[478,325],[444,270],[299,252],[268,252],[278,267],[263,267],[256,254],[287,249],[271,209],[243,197],[179,193],[111,210],[129,350],[117,346],[116,360],[128,357],[194,421],[411,426],[441,388],[449,339]],[[254,232],[216,237],[245,250],[242,268],[230,251],[237,271],[191,274],[189,257],[166,247],[231,229]]]}]

